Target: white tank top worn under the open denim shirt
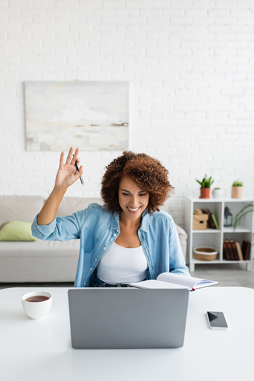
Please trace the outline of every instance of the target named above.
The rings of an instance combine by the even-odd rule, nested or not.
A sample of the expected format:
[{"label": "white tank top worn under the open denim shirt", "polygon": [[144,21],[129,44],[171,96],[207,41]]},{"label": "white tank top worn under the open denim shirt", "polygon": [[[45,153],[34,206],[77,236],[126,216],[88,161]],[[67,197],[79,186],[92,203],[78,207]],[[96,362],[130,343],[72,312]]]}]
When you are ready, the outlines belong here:
[{"label": "white tank top worn under the open denim shirt", "polygon": [[113,243],[97,266],[97,276],[110,284],[140,282],[147,276],[147,261],[142,246],[127,248]]}]

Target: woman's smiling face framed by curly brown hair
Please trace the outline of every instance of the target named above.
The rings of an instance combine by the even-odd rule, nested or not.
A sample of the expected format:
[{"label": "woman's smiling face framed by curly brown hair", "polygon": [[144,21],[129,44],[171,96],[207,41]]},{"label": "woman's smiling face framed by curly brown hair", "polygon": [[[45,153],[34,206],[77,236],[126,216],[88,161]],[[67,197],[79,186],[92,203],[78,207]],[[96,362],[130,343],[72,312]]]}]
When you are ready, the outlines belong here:
[{"label": "woman's smiling face framed by curly brown hair", "polygon": [[124,217],[131,219],[138,219],[141,217],[141,214],[146,209],[149,201],[149,194],[140,189],[138,184],[128,176],[124,176],[121,179],[118,196],[121,207],[120,216],[123,211]]}]

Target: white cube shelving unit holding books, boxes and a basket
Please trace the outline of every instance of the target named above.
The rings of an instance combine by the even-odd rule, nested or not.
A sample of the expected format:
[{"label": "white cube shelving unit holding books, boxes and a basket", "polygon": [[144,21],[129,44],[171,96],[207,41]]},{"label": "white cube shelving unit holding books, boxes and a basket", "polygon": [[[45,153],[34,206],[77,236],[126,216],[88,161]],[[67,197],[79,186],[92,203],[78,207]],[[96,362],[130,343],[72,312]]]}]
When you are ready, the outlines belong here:
[{"label": "white cube shelving unit holding books, boxes and a basket", "polygon": [[[209,265],[210,263],[246,263],[246,271],[251,271],[251,259],[253,248],[250,249],[248,260],[236,261],[225,260],[223,258],[223,240],[234,239],[242,244],[243,240],[251,241],[254,231],[254,215],[248,213],[244,217],[241,226],[235,230],[233,227],[224,227],[224,210],[228,207],[233,214],[233,218],[246,204],[252,202],[248,198],[185,198],[185,231],[188,235],[187,239],[187,262],[189,263],[190,272],[195,271],[195,265],[200,263]],[[195,209],[209,209],[213,213],[218,222],[218,229],[193,230],[193,211]],[[212,246],[218,250],[216,260],[202,261],[194,257],[193,249],[196,246]]]}]

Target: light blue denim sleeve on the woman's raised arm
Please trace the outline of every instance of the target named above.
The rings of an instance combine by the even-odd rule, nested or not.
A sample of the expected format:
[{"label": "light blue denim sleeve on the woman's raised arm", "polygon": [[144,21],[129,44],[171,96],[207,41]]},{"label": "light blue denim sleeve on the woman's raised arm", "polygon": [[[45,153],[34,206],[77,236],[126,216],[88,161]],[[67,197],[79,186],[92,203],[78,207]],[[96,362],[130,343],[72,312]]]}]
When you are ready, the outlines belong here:
[{"label": "light blue denim sleeve on the woman's raised arm", "polygon": [[48,225],[38,225],[37,215],[31,225],[32,235],[44,241],[77,240],[80,238],[80,224],[85,212],[86,210],[83,210],[72,216],[56,217]]}]

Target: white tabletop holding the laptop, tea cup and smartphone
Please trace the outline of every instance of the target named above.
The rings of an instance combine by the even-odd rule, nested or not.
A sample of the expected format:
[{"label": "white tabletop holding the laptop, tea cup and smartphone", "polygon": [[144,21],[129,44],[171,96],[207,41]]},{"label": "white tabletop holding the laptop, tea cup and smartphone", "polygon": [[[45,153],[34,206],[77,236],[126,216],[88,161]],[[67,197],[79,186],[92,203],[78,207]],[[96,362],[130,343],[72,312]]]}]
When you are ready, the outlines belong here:
[{"label": "white tabletop holding the laptop, tea cup and smartphone", "polygon": [[[49,314],[31,320],[21,295],[53,295]],[[176,349],[73,349],[69,288],[0,290],[3,381],[239,381],[254,377],[254,289],[207,287],[190,292],[185,340]],[[208,328],[206,311],[223,311],[229,330]]]}]

